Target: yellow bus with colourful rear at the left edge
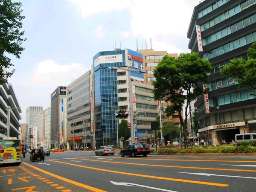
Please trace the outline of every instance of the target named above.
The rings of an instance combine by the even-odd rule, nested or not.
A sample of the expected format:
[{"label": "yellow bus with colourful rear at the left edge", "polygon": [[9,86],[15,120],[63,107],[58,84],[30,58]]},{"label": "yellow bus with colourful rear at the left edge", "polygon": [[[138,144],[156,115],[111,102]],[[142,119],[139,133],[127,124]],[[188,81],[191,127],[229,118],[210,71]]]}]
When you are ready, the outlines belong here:
[{"label": "yellow bus with colourful rear at the left edge", "polygon": [[21,142],[16,137],[6,137],[0,140],[0,165],[15,163],[20,165],[22,158]]}]

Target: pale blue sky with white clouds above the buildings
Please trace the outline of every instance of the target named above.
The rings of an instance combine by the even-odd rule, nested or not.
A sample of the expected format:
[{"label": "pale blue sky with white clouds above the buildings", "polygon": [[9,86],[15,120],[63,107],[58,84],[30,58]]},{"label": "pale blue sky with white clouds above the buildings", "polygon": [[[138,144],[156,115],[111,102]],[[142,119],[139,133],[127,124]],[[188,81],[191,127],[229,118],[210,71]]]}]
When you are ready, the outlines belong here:
[{"label": "pale blue sky with white clouds above the buildings", "polygon": [[[13,0],[14,1],[14,0]],[[21,123],[29,106],[50,106],[50,95],[90,70],[99,51],[150,48],[190,52],[187,30],[199,0],[15,0],[23,6],[25,50],[12,58]]]}]

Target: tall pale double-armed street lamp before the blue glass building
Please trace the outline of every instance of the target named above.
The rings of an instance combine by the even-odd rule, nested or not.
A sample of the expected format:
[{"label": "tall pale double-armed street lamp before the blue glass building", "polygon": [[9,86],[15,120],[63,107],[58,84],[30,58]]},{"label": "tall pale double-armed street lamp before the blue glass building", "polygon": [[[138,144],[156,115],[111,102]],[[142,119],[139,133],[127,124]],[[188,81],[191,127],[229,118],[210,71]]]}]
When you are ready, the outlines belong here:
[{"label": "tall pale double-armed street lamp before the blue glass building", "polygon": [[[137,70],[137,69],[131,69],[130,67],[108,67],[108,69],[112,69],[112,70],[126,70],[128,71],[128,76],[126,78],[126,83],[127,83],[127,90],[128,90],[128,111],[130,111],[130,122],[131,122],[131,143],[135,142],[135,138],[134,138],[134,123],[133,123],[133,110],[132,109],[132,102],[130,101],[132,98],[132,87],[131,87],[131,71],[135,71],[135,72],[140,72],[140,73],[145,73],[145,70]],[[119,142],[119,140],[118,140]]]}]

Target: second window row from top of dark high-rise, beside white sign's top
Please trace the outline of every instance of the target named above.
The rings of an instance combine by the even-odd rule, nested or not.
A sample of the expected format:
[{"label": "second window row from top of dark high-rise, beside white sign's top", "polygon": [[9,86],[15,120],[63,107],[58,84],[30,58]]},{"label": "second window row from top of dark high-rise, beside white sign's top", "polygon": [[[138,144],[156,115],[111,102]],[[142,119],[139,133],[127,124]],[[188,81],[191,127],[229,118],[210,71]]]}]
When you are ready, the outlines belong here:
[{"label": "second window row from top of dark high-rise, beside white sign's top", "polygon": [[238,14],[239,12],[243,11],[244,9],[247,9],[248,7],[255,4],[256,0],[246,0],[239,5],[232,7],[231,9],[225,11],[224,13],[218,15],[217,17],[214,17],[212,20],[207,21],[206,23],[202,24],[200,26],[201,31],[204,31],[206,29],[209,29],[210,27],[220,23],[221,21],[226,20],[229,17],[232,17],[233,15]]}]

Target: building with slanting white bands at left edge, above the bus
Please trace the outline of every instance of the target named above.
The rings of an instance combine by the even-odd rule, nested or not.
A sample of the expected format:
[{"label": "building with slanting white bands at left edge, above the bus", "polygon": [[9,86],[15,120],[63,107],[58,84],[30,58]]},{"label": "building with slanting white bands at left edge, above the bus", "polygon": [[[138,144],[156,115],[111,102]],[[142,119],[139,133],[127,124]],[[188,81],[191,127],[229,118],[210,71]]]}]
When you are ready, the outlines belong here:
[{"label": "building with slanting white bands at left edge, above the bus", "polygon": [[20,136],[20,105],[13,85],[11,83],[3,83],[0,85],[0,139],[7,136],[8,108],[10,112],[9,137],[18,138]]}]

